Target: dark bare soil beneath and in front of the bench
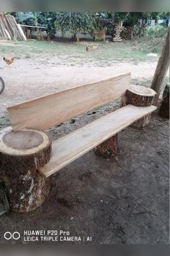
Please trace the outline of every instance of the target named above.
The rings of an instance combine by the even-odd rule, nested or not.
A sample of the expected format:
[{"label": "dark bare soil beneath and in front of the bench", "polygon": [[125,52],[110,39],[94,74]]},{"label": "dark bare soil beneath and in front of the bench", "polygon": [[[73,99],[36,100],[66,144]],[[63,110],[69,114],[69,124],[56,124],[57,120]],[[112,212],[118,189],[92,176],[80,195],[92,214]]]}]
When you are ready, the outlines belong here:
[{"label": "dark bare soil beneath and in front of the bench", "polygon": [[[80,116],[49,133],[55,139],[107,112]],[[169,121],[156,114],[148,127],[128,127],[119,134],[117,160],[91,150],[70,163],[52,176],[40,208],[1,216],[1,237],[6,231],[52,229],[92,236],[94,244],[169,243],[168,138]]]}]

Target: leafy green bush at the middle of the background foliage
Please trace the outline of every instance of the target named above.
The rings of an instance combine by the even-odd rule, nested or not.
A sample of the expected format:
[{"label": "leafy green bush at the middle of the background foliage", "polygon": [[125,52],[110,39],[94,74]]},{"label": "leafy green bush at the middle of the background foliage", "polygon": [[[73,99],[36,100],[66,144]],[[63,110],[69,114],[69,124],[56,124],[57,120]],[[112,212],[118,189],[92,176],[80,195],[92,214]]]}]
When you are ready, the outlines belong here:
[{"label": "leafy green bush at the middle of the background foliage", "polygon": [[57,12],[55,26],[61,33],[71,33],[74,38],[80,33],[97,29],[97,19],[94,12]]}]

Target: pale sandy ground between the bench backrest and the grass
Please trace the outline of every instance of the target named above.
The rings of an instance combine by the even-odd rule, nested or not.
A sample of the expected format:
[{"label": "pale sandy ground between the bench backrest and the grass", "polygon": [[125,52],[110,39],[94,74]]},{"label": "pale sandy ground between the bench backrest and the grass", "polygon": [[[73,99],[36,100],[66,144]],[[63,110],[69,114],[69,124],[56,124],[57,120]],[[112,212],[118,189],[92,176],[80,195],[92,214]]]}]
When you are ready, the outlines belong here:
[{"label": "pale sandy ground between the bench backrest and the grass", "polygon": [[62,66],[58,59],[17,59],[7,67],[0,62],[0,75],[6,88],[0,95],[0,117],[6,114],[6,107],[32,98],[55,93],[63,88],[71,88],[86,82],[94,82],[131,72],[132,79],[151,79],[156,69],[156,62],[115,63],[112,67],[97,67],[97,64],[83,64],[83,67],[71,67],[65,60]]}]

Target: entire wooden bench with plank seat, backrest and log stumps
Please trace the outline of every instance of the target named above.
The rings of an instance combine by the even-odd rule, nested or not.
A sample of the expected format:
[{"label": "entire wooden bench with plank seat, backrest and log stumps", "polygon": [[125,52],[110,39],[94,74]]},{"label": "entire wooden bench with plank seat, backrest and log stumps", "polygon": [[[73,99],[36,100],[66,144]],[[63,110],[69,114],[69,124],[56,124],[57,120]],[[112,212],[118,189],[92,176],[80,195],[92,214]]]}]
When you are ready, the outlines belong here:
[{"label": "entire wooden bench with plank seat, backrest and log stumps", "polygon": [[[0,165],[9,195],[12,190],[12,209],[34,210],[48,195],[50,182],[46,177],[93,148],[101,154],[104,148],[114,151],[112,139],[130,124],[148,124],[156,109],[151,106],[155,94],[149,88],[130,86],[127,73],[7,108],[12,128],[1,131]],[[42,131],[117,98],[128,105],[53,141],[51,152],[50,138]],[[14,182],[16,177],[18,182]]]}]

